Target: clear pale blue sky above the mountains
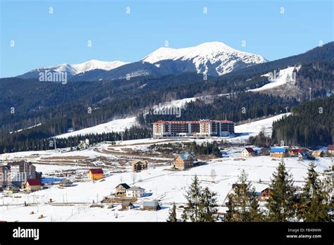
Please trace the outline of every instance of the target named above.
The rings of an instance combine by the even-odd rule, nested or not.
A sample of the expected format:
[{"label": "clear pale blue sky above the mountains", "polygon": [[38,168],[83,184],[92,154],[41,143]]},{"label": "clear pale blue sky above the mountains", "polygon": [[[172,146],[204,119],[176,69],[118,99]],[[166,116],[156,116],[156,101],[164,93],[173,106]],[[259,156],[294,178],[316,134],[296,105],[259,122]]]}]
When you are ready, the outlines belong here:
[{"label": "clear pale blue sky above the mountains", "polygon": [[172,48],[224,42],[273,61],[334,39],[331,0],[0,1],[0,77],[91,59],[138,61],[165,40]]}]

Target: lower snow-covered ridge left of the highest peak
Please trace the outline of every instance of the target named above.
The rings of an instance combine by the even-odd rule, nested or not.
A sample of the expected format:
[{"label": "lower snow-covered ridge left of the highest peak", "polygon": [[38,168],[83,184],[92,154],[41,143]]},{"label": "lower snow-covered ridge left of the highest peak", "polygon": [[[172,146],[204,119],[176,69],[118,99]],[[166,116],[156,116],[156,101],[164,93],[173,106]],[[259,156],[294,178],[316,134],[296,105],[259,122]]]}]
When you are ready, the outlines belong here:
[{"label": "lower snow-covered ridge left of the highest peak", "polygon": [[90,60],[84,63],[73,64],[73,65],[70,65],[68,63],[63,63],[61,65],[37,68],[35,70],[31,70],[28,73],[20,75],[19,77],[22,77],[22,78],[37,77],[40,72],[44,72],[44,71],[67,73],[68,76],[74,76],[79,73],[85,73],[89,70],[95,70],[95,69],[113,70],[125,64],[128,64],[128,63],[123,62],[123,61],[97,61],[97,60]]}]

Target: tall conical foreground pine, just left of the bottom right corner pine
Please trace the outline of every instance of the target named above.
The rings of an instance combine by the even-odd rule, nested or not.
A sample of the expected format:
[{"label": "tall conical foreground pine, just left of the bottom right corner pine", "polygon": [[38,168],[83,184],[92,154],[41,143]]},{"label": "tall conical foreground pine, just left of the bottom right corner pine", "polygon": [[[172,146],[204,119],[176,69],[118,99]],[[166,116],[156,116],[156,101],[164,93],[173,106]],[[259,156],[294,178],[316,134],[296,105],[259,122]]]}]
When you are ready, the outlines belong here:
[{"label": "tall conical foreground pine, just left of the bottom right corner pine", "polygon": [[285,170],[283,159],[273,173],[269,188],[271,197],[267,202],[268,220],[275,222],[292,220],[295,217],[295,187],[292,176]]}]

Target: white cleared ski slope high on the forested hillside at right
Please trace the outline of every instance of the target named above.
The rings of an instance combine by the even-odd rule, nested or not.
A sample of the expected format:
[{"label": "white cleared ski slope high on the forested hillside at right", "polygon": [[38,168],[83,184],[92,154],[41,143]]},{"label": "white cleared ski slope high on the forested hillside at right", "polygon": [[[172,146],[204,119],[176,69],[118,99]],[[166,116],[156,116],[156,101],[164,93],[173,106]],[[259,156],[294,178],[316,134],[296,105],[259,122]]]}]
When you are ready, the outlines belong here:
[{"label": "white cleared ski slope high on the forested hillside at right", "polygon": [[292,66],[289,68],[285,68],[280,70],[277,73],[266,73],[264,75],[262,75],[263,77],[268,77],[268,80],[270,81],[270,83],[259,87],[257,89],[250,89],[249,91],[252,92],[259,92],[259,91],[263,91],[263,90],[267,90],[267,89],[273,89],[274,87],[279,87],[283,84],[286,84],[287,82],[296,82],[296,75],[294,74],[294,70],[299,71],[299,69],[302,66]]}]

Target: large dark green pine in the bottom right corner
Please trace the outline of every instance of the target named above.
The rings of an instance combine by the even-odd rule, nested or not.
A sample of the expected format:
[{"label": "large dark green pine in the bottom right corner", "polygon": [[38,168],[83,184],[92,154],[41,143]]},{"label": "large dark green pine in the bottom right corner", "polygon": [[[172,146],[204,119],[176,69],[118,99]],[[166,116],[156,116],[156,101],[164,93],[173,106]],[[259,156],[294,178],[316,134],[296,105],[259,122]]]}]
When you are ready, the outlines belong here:
[{"label": "large dark green pine in the bottom right corner", "polygon": [[328,208],[328,191],[326,190],[326,180],[321,182],[318,173],[314,169],[313,162],[309,164],[307,177],[302,189],[302,209],[301,218],[306,222],[330,221]]}]

